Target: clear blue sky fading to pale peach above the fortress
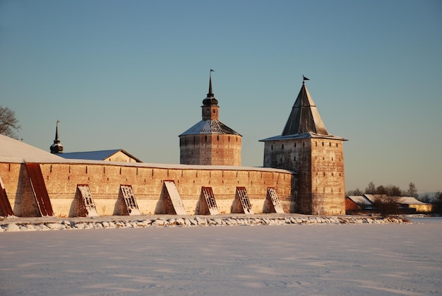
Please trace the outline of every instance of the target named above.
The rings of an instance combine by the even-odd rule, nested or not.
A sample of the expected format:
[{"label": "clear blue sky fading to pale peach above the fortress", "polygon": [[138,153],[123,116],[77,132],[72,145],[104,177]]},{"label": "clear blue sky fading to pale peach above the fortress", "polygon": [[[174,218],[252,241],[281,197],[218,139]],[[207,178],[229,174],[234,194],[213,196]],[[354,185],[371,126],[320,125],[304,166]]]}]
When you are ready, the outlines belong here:
[{"label": "clear blue sky fading to pale peach above the fortress", "polygon": [[242,163],[284,128],[302,75],[345,142],[346,190],[442,191],[442,1],[0,1],[0,105],[49,151],[179,163],[209,71]]}]

